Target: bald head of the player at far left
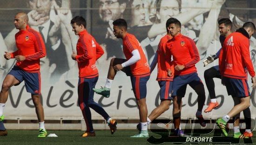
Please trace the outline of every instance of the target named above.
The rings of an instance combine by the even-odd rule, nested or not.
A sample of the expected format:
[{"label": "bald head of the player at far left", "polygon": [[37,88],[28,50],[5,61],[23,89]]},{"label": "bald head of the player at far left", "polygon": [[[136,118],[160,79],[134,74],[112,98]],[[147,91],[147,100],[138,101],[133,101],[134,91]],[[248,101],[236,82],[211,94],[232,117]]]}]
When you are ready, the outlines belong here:
[{"label": "bald head of the player at far left", "polygon": [[23,29],[23,30],[26,30],[26,26],[28,24],[28,16],[27,16],[27,13],[24,13],[24,12],[20,12],[20,13],[17,13],[15,15],[15,18],[14,18],[14,25],[16,27],[16,29]]}]

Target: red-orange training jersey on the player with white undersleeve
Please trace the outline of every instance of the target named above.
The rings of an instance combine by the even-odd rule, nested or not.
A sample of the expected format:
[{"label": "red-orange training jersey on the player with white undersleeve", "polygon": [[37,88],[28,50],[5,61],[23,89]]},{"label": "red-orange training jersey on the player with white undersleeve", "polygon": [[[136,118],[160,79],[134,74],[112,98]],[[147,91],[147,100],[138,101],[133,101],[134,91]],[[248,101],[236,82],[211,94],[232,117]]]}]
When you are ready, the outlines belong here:
[{"label": "red-orange training jersey on the player with white undersleeve", "polygon": [[123,39],[123,53],[127,60],[132,57],[132,52],[135,49],[139,51],[141,59],[130,66],[133,76],[150,75],[148,61],[142,50],[140,42],[134,35],[127,33]]}]

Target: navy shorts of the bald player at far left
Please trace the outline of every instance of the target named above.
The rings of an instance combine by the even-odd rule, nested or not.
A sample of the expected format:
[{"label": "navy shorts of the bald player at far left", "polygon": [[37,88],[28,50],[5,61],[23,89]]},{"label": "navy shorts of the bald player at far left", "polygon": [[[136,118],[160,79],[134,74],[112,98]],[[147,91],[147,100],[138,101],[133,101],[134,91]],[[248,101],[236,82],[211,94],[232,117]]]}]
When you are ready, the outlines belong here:
[{"label": "navy shorts of the bald player at far left", "polygon": [[41,94],[40,72],[26,72],[18,66],[13,66],[12,70],[8,74],[13,75],[20,81],[20,83],[24,80],[27,92],[33,95]]}]

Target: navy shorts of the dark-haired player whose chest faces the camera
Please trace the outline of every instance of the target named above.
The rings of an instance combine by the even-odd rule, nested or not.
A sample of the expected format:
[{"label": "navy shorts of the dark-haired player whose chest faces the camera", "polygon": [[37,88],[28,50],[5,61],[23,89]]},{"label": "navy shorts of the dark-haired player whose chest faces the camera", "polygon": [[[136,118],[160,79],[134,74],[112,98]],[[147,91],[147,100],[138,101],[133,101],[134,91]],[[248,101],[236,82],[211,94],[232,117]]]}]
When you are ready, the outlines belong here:
[{"label": "navy shorts of the dark-haired player whose chest faces the camera", "polygon": [[198,77],[196,72],[174,76],[172,96],[184,97],[188,84],[189,86],[195,86],[202,84],[202,80]]}]

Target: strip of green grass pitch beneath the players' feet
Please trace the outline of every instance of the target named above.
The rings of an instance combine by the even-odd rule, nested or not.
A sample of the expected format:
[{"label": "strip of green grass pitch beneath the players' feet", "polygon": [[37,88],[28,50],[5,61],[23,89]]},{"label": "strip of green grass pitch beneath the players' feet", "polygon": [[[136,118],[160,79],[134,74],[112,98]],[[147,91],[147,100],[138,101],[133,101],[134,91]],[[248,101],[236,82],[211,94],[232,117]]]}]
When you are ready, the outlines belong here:
[{"label": "strip of green grass pitch beneath the players' feet", "polygon": [[[58,137],[37,138],[37,130],[8,130],[8,136],[0,137],[0,145],[151,145],[147,142],[147,138],[130,138],[138,133],[137,130],[117,130],[114,135],[111,135],[109,130],[96,130],[95,132],[96,137],[81,138],[82,131],[48,130],[48,134],[55,133]],[[151,135],[160,137],[149,131],[149,136]],[[256,137],[253,137],[252,141],[255,145]],[[164,145],[177,144],[165,143]],[[185,145],[190,145],[190,143]],[[199,145],[209,145],[209,143],[200,143]],[[240,141],[240,145],[243,145],[243,140]]]}]

